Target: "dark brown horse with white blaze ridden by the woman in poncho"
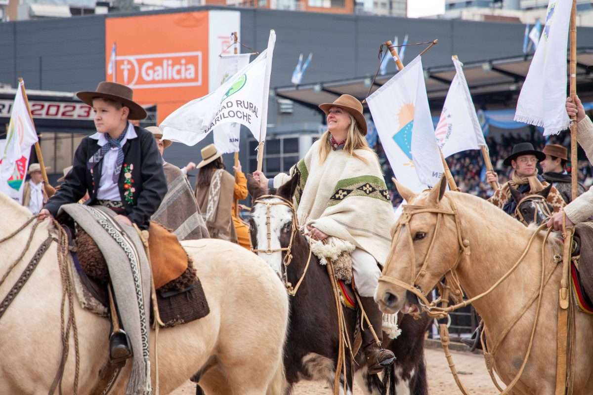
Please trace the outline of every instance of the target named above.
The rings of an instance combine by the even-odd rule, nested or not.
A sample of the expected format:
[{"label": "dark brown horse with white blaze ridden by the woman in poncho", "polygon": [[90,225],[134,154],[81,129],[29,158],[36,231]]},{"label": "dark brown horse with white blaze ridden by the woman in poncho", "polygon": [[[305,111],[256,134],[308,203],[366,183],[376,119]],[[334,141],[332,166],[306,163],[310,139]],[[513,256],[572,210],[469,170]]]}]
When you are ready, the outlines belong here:
[{"label": "dark brown horse with white blaze ridden by the woman in poncho", "polygon": [[[298,174],[279,188],[278,195],[270,196],[265,195],[267,191],[260,188],[253,177],[247,176],[247,188],[253,202],[249,220],[251,242],[255,250],[268,247],[280,250],[291,245],[292,261],[286,267],[286,277],[295,288],[306,271],[297,293],[290,299],[291,319],[284,359],[289,388],[292,389],[295,383],[304,379],[326,381],[333,388],[339,352],[336,304],[326,267],[320,265],[314,254],[310,254],[305,236],[297,230],[294,233],[292,231],[294,211],[286,203],[292,201],[297,184]],[[257,201],[270,203],[269,216],[266,204]],[[286,251],[258,253],[282,277],[282,262]],[[310,263],[307,268],[308,259]],[[356,311],[344,309],[344,315],[352,342],[357,314]],[[424,364],[424,335],[428,324],[426,314],[419,320],[404,316],[399,323],[401,335],[396,340],[391,340],[383,333],[383,346],[391,349],[397,357],[396,362],[391,365],[394,373],[391,393],[428,395]],[[346,350],[346,354],[348,353]],[[356,355],[356,381],[365,394],[382,394],[380,378],[376,374],[368,374],[361,354],[362,351]],[[349,358],[346,365],[347,393],[351,394],[352,370]],[[340,393],[345,380],[343,373],[344,371],[340,378]]]}]

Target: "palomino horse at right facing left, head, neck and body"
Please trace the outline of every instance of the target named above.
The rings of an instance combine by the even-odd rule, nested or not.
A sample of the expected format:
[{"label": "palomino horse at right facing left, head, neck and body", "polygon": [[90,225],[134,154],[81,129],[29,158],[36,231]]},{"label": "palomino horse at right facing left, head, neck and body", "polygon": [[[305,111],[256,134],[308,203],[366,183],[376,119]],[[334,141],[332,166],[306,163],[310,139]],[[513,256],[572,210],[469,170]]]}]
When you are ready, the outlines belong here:
[{"label": "palomino horse at right facing left, head, neck and body", "polygon": [[[406,313],[413,310],[410,300],[428,294],[445,275],[458,280],[468,297],[476,297],[517,264],[506,280],[473,304],[485,324],[495,371],[505,384],[511,383],[521,369],[537,325],[533,348],[512,394],[554,394],[562,242],[557,236],[546,239],[544,232],[534,233],[537,230],[533,227],[525,227],[478,197],[445,192],[443,180],[419,195],[396,185],[410,205],[394,229],[391,255],[375,300],[385,313]],[[538,310],[540,282],[544,287]],[[591,394],[593,353],[588,344],[593,317],[576,310],[574,318],[577,346],[573,394]]]}]

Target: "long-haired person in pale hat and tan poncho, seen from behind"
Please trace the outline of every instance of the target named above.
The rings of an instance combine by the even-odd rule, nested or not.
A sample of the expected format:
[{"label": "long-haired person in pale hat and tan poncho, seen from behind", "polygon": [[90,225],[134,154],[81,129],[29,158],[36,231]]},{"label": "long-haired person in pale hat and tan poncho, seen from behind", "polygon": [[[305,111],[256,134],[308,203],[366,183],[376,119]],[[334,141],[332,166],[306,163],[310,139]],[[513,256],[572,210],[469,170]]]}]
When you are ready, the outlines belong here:
[{"label": "long-haired person in pale hat and tan poncho, seen from behind", "polygon": [[[196,201],[206,221],[210,237],[237,243],[231,209],[235,178],[225,171],[222,153],[214,144],[202,148],[202,162],[196,181]],[[234,168],[237,172],[237,168]]]}]

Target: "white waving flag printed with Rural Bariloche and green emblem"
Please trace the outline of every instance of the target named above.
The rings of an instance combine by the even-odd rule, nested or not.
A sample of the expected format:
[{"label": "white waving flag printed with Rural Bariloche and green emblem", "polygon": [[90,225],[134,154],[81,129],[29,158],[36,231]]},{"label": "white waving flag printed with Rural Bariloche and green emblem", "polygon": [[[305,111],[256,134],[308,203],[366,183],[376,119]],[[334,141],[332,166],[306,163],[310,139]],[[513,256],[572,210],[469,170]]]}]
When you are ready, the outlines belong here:
[{"label": "white waving flag printed with Rural Bariloche and green emblem", "polygon": [[160,125],[162,139],[193,146],[220,124],[240,123],[258,142],[264,141],[275,42],[271,30],[267,49],[253,62],[216,91],[173,111]]}]

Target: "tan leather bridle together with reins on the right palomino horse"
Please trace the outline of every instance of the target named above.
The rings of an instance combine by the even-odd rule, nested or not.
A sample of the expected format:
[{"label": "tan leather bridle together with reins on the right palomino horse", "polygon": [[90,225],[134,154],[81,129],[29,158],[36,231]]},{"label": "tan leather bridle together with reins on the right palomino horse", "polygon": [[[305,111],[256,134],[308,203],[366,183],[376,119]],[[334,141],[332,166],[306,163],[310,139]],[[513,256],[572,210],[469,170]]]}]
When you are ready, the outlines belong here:
[{"label": "tan leather bridle together with reins on the right palomino horse", "polygon": [[[411,262],[412,262],[412,265],[411,265],[412,266],[412,268],[411,268],[412,276],[410,277],[412,279],[412,283],[409,284],[407,282],[397,280],[396,278],[393,278],[393,277],[390,277],[387,275],[383,275],[383,274],[379,278],[380,282],[381,281],[389,282],[391,284],[397,285],[398,287],[404,288],[405,290],[410,291],[413,294],[415,294],[415,296],[419,299],[419,304],[422,307],[422,309],[425,310],[429,316],[435,317],[436,319],[443,319],[445,317],[448,317],[449,312],[460,309],[461,307],[468,306],[469,304],[473,303],[474,301],[479,300],[480,298],[483,298],[484,296],[487,296],[488,294],[492,293],[493,290],[495,290],[503,281],[506,280],[506,278],[508,278],[515,271],[515,269],[518,268],[518,266],[521,264],[521,262],[525,259],[525,256],[527,256],[527,253],[530,251],[531,245],[533,245],[533,242],[534,242],[536,236],[540,234],[540,231],[543,230],[544,227],[547,226],[546,224],[542,224],[541,226],[537,227],[537,229],[535,230],[533,235],[531,235],[531,237],[527,243],[527,246],[525,247],[525,250],[522,252],[522,254],[519,257],[519,259],[517,260],[517,262],[515,262],[515,264],[512,265],[512,267],[498,281],[496,281],[495,284],[493,284],[488,290],[484,291],[483,293],[464,301],[463,300],[463,290],[461,288],[460,282],[458,281],[456,269],[457,269],[457,266],[460,264],[460,262],[463,259],[469,259],[470,243],[469,243],[469,240],[467,240],[463,237],[461,223],[460,223],[457,207],[454,203],[454,200],[452,200],[452,198],[447,194],[445,194],[445,198],[447,198],[449,205],[451,205],[451,210],[446,210],[444,208],[438,208],[438,207],[421,206],[421,205],[404,205],[403,206],[404,210],[401,213],[400,219],[398,220],[396,227],[394,228],[393,245],[395,245],[397,243],[397,240],[401,236],[401,231],[403,230],[403,228],[406,226],[409,227],[409,222],[412,219],[412,216],[414,214],[433,213],[433,214],[436,214],[436,216],[437,216],[435,230],[433,232],[431,244],[429,245],[428,251],[426,252],[426,256],[425,256],[423,264],[420,268],[420,271],[417,274],[416,274],[416,267],[415,267],[416,266],[415,265],[416,258],[415,258],[415,250],[413,248],[412,232],[408,232],[409,247],[410,247],[410,252],[412,253],[412,260],[411,260]],[[420,280],[422,280],[422,277],[426,274],[426,266],[428,265],[428,261],[431,256],[431,252],[432,252],[432,248],[433,248],[433,245],[435,242],[436,234],[438,233],[438,231],[440,229],[441,219],[445,215],[454,217],[455,227],[457,230],[457,241],[458,241],[458,245],[459,245],[459,252],[458,252],[457,259],[455,259],[454,265],[444,275],[445,285],[442,287],[439,287],[439,293],[441,293],[440,297],[437,298],[437,300],[435,300],[433,302],[429,302],[428,299],[426,298],[425,293],[422,290],[422,287],[420,287],[420,285],[418,285],[418,282]],[[486,367],[487,367],[490,377],[492,378],[496,387],[500,391],[502,391],[501,395],[508,394],[512,390],[512,388],[515,386],[515,384],[518,382],[519,378],[521,377],[522,372],[524,371],[525,365],[527,364],[527,360],[528,360],[530,352],[531,352],[531,347],[533,346],[533,339],[535,336],[535,329],[537,327],[537,320],[538,320],[538,316],[540,313],[543,289],[544,289],[544,286],[547,284],[548,280],[550,280],[550,277],[553,274],[554,269],[556,269],[556,267],[557,267],[558,259],[557,259],[557,256],[554,256],[554,259],[552,261],[553,265],[551,265],[551,268],[548,271],[548,274],[546,275],[546,267],[545,267],[546,241],[549,238],[551,230],[552,230],[551,228],[547,230],[547,233],[544,236],[544,239],[542,242],[540,287],[538,288],[538,291],[535,293],[535,296],[532,297],[528,301],[528,303],[523,307],[523,309],[520,311],[520,313],[517,314],[514,317],[514,319],[511,320],[511,322],[508,324],[508,326],[505,328],[505,330],[503,330],[502,334],[499,336],[499,338],[495,342],[495,346],[493,347],[492,352],[490,352],[490,353],[487,352],[486,344],[483,341],[483,336],[484,336],[484,333],[486,332],[485,325],[484,325],[484,330],[482,331],[482,337],[480,340],[482,341],[482,345],[484,347],[484,358],[486,358]],[[393,252],[394,252],[394,249],[391,249],[390,255],[387,257],[387,261],[385,263],[383,272],[386,272],[388,266],[391,264],[391,262],[393,262],[393,259],[392,259]],[[452,291],[451,295],[449,295],[449,291]],[[457,303],[452,306],[448,306],[449,297],[451,297]],[[517,323],[517,321],[521,318],[522,314],[525,311],[527,311],[527,309],[534,303],[536,298],[537,298],[537,308],[535,310],[535,319],[534,319],[533,327],[531,329],[531,336],[530,336],[530,342],[529,342],[529,345],[527,348],[527,353],[525,354],[524,361],[521,365],[520,370],[518,371],[517,375],[515,376],[515,378],[511,381],[511,383],[509,383],[508,386],[506,386],[505,390],[502,390],[502,388],[500,388],[499,384],[496,382],[496,379],[495,379],[493,371],[492,371],[492,369],[494,367],[494,356],[495,356],[496,349],[498,348],[500,343],[502,343],[506,334],[512,329],[512,327],[515,325],[515,323]],[[437,306],[439,303],[442,305],[441,307]],[[468,395],[466,388],[464,388],[463,384],[461,383],[461,381],[458,377],[457,371],[455,370],[455,364],[452,361],[450,352],[448,351],[448,342],[449,342],[448,333],[449,332],[447,329],[447,325],[444,325],[444,324],[439,325],[439,332],[441,333],[441,343],[442,343],[443,349],[445,351],[445,356],[447,357],[447,361],[449,362],[449,368],[451,368],[451,373],[455,378],[455,382],[457,383],[461,392],[464,395]]]}]

